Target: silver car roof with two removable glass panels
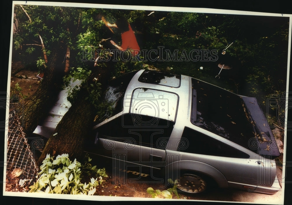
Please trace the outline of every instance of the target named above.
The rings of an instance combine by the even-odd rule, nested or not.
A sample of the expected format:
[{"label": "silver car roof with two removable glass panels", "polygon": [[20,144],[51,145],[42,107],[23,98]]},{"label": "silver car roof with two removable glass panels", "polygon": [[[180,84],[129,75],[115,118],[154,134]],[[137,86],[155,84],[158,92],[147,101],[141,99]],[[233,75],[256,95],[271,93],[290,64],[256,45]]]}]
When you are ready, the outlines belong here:
[{"label": "silver car roof with two removable glass panels", "polygon": [[[157,107],[159,114],[154,109],[151,111],[144,109],[145,111],[142,110],[143,112],[139,112],[139,114],[175,121],[178,109],[189,105],[189,95],[190,77],[155,70],[140,70],[127,87],[124,112],[137,113],[141,111],[138,109],[141,103],[145,106],[147,102],[152,101],[153,104],[155,100],[156,103],[159,103]],[[137,105],[136,102],[139,99],[143,101]]]}]

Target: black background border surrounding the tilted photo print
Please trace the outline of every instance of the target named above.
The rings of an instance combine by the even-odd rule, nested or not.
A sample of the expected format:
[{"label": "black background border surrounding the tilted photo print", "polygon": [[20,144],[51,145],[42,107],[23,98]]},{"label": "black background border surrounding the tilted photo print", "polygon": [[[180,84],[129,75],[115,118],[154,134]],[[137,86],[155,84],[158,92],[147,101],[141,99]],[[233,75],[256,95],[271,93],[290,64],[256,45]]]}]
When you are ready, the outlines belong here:
[{"label": "black background border surrounding the tilted photo print", "polygon": [[[25,2],[25,1],[24,1]],[[30,1],[31,2],[31,1]],[[54,2],[54,0],[52,0]],[[56,1],[55,1],[56,2]],[[136,0],[136,1],[105,1],[105,0],[97,0],[97,1],[64,1],[59,0],[59,2],[68,2],[68,3],[100,3],[100,4],[119,4],[119,5],[138,5],[138,6],[170,6],[170,7],[193,7],[193,8],[216,8],[216,9],[227,9],[227,10],[241,10],[241,11],[256,11],[256,12],[265,12],[265,13],[284,13],[284,14],[292,14],[291,6],[289,6],[284,1],[273,1],[273,3],[267,3],[269,1],[215,1],[215,0],[199,0],[199,1],[174,1],[168,0],[166,3],[162,1],[150,1],[150,0]],[[0,92],[7,92],[7,78],[8,78],[8,61],[9,61],[9,50],[10,50],[10,35],[11,35],[11,17],[12,17],[12,1],[6,0],[1,2],[1,66],[0,66]],[[69,6],[69,4],[68,4]],[[291,66],[291,61],[290,61]],[[291,86],[290,86],[291,87]],[[291,91],[291,89],[289,89]],[[0,96],[1,97],[1,96]],[[291,107],[289,107],[291,110]],[[288,113],[288,122],[291,124],[292,118],[290,116],[291,112]],[[0,107],[0,122],[5,121],[5,109]],[[291,131],[287,133],[287,158],[286,163],[292,162],[291,158],[291,149],[289,149],[289,145],[291,144],[291,139],[289,138],[291,135]],[[1,162],[0,162],[0,180],[2,181],[3,176],[3,162],[4,160],[4,130],[0,129],[1,136]],[[285,181],[291,181],[291,183],[285,183],[285,200],[284,204],[290,204],[291,202],[291,167],[286,166],[286,179]],[[1,196],[3,195],[3,185],[0,184],[0,192]],[[65,200],[65,199],[42,199],[42,198],[29,198],[29,197],[6,197],[2,196],[1,204],[118,204],[118,203],[126,203],[126,204],[148,204],[155,202],[147,202],[147,201],[128,201],[128,202],[93,202],[93,201],[81,201],[81,200]],[[158,202],[161,203],[161,202]],[[177,201],[168,201],[162,202],[168,204],[178,203]],[[182,202],[179,202],[182,203]],[[187,202],[184,201],[183,204],[232,204],[232,203],[223,203],[223,202]],[[238,204],[238,203],[234,203]]]}]

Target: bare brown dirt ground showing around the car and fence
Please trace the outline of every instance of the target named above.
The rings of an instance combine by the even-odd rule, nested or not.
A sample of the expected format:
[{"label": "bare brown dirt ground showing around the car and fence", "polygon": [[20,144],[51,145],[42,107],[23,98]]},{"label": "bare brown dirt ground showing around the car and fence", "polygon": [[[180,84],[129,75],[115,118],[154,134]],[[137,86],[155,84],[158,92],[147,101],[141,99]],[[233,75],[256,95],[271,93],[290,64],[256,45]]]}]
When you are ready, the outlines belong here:
[{"label": "bare brown dirt ground showing around the car and fence", "polygon": [[[22,98],[27,98],[37,90],[39,86],[39,80],[36,77],[37,71],[31,70],[23,70],[21,63],[15,62],[12,64],[11,68],[11,91],[10,95],[20,95]],[[18,89],[17,89],[18,87]],[[282,164],[283,161],[283,142],[284,142],[284,133],[276,128],[272,130],[274,135],[276,136],[277,144],[279,146],[279,150],[281,152],[281,156],[279,157],[279,163],[277,163],[277,176],[280,181],[283,179],[282,177]],[[107,170],[109,177],[106,178],[105,182],[97,188],[95,195],[105,196],[105,197],[147,197],[151,198],[151,195],[147,193],[147,188],[152,187],[154,190],[160,189],[165,190],[170,187],[164,187],[163,183],[147,183],[141,181],[139,183],[131,182],[133,180],[133,174],[126,174],[124,179],[120,176],[114,176],[112,174],[112,170]],[[135,176],[134,176],[135,177]],[[116,183],[117,181],[121,181],[124,183]],[[164,189],[161,189],[164,188]],[[16,186],[15,183],[11,183],[9,185],[8,190],[13,192],[24,192],[27,191],[27,188],[20,188]],[[173,199],[177,199],[177,197],[173,194]],[[207,200],[207,201],[228,201],[228,202],[253,202],[260,204],[281,204],[284,200],[284,190],[280,190],[274,195],[265,195],[258,194],[253,192],[246,192],[241,190],[234,189],[213,189],[210,190],[206,194],[195,194],[195,195],[186,195],[180,194],[180,199],[191,199],[191,200]],[[116,200],[116,199],[110,199]],[[130,200],[130,199],[125,199]]]}]

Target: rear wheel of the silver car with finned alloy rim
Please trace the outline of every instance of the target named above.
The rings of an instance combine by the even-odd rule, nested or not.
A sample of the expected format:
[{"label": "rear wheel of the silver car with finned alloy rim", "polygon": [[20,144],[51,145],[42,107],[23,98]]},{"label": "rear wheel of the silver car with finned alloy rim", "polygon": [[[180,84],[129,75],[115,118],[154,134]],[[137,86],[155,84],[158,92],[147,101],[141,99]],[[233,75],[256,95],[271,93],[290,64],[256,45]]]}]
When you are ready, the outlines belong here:
[{"label": "rear wheel of the silver car with finned alloy rim", "polygon": [[181,174],[177,188],[188,193],[201,193],[208,187],[207,179],[199,174]]}]

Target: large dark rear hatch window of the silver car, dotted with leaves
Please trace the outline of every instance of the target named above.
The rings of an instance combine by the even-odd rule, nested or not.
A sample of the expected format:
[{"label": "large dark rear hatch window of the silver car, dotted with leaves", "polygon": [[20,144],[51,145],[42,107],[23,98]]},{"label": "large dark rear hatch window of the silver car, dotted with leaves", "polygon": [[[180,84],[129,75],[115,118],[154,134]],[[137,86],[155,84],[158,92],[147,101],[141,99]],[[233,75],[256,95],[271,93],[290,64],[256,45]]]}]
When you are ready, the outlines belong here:
[{"label": "large dark rear hatch window of the silver car, dotted with leaves", "polygon": [[192,88],[191,122],[250,149],[256,130],[241,97],[197,79]]}]

